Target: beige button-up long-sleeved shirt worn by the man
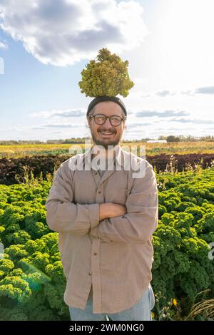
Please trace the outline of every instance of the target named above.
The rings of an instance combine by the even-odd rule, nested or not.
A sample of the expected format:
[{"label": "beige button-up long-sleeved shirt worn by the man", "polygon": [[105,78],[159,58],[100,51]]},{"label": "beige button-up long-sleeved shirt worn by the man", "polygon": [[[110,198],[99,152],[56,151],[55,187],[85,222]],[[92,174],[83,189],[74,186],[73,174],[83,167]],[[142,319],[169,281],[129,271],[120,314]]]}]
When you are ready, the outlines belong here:
[{"label": "beige button-up long-sleeved shirt worn by the man", "polygon": [[[66,276],[64,301],[85,309],[93,287],[93,313],[131,308],[152,279],[151,237],[158,225],[155,172],[147,160],[120,145],[116,148],[111,170],[102,175],[91,165],[91,149],[61,163],[46,200],[47,224],[58,232]],[[127,168],[132,158],[138,168],[143,166],[143,176],[133,175],[136,168],[131,164]],[[82,170],[73,168],[73,164],[80,166],[78,159]],[[126,205],[126,215],[100,221],[103,202]]]}]

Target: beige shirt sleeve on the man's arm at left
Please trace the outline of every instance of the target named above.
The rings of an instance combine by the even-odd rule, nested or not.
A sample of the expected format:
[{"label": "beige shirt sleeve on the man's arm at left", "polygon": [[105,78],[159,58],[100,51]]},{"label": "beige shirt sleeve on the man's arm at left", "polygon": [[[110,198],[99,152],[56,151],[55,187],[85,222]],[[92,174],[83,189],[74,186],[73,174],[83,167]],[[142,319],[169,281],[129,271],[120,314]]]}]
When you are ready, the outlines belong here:
[{"label": "beige shirt sleeve on the man's arm at left", "polygon": [[99,223],[98,203],[73,202],[71,173],[63,163],[56,170],[45,207],[47,225],[55,232],[83,235]]}]

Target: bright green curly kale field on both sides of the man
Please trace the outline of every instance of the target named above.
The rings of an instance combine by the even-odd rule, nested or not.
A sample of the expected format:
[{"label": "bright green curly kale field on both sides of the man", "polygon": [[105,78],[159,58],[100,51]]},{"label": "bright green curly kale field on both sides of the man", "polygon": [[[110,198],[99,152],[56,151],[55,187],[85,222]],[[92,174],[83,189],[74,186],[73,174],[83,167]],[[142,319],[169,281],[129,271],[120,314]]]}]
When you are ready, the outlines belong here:
[{"label": "bright green curly kale field on both sides of the man", "polygon": [[[163,172],[153,234],[155,320],[214,319],[214,168]],[[0,320],[69,320],[58,233],[46,225],[48,180],[0,185]],[[196,302],[203,301],[197,312]]]}]

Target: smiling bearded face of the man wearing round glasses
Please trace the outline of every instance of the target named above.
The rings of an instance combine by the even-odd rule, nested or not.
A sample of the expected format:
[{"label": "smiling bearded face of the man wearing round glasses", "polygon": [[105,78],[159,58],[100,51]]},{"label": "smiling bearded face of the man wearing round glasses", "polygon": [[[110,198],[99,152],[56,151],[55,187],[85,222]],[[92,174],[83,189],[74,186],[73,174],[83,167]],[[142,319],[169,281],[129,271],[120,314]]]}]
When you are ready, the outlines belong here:
[{"label": "smiling bearded face of the man wearing round glasses", "polygon": [[[121,106],[113,101],[102,101],[101,103],[97,103],[92,115],[96,114],[104,114],[106,116],[118,115],[121,116],[121,118],[124,116]],[[108,145],[118,145],[123,135],[123,129],[125,128],[123,121],[120,125],[113,126],[109,119],[106,119],[106,122],[103,125],[97,125],[94,118],[91,118],[91,120],[88,121],[88,124],[91,129],[93,143],[96,145],[103,145],[106,149],[108,149]],[[111,135],[102,133],[104,131],[111,132]]]}]

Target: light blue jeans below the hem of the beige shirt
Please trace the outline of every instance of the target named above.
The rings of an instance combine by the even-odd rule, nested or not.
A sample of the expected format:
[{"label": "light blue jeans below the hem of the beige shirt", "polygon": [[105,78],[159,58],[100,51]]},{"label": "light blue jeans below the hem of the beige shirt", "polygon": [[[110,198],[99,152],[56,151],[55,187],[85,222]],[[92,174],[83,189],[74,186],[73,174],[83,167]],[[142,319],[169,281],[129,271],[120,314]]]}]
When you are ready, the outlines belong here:
[{"label": "light blue jeans below the hem of the beige shirt", "polygon": [[155,297],[151,284],[149,284],[146,292],[143,293],[141,299],[137,303],[125,311],[119,311],[113,314],[95,314],[93,313],[93,301],[88,299],[86,308],[79,309],[69,306],[71,321],[106,321],[109,318],[113,321],[152,321],[151,310],[155,306]]}]

